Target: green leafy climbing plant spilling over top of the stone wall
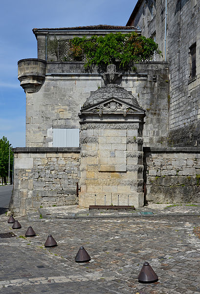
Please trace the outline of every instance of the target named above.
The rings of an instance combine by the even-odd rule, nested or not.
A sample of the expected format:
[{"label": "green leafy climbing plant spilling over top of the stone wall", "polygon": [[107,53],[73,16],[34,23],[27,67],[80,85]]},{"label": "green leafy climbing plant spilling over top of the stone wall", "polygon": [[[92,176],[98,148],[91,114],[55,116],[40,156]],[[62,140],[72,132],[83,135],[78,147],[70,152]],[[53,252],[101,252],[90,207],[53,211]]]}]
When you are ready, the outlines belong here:
[{"label": "green leafy climbing plant spilling over top of the stone wall", "polygon": [[145,38],[135,32],[109,33],[104,37],[75,37],[71,40],[71,48],[75,58],[80,57],[77,55],[83,50],[87,58],[85,67],[111,63],[119,63],[120,67],[126,67],[130,62],[150,61],[155,53],[161,55],[153,39]]}]

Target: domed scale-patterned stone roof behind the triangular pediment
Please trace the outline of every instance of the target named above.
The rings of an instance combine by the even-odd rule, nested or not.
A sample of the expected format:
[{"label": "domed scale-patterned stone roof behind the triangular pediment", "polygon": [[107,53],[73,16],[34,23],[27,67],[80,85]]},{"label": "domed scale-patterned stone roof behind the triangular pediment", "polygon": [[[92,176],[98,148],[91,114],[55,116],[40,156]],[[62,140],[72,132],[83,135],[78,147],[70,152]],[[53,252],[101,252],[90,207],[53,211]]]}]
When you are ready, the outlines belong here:
[{"label": "domed scale-patterned stone roof behind the triangular pediment", "polygon": [[118,98],[124,102],[140,107],[136,98],[134,98],[131,92],[128,92],[126,89],[116,84],[108,84],[105,87],[102,87],[94,92],[91,92],[91,95],[89,96],[89,98],[87,98],[83,107],[88,107],[108,98]]}]

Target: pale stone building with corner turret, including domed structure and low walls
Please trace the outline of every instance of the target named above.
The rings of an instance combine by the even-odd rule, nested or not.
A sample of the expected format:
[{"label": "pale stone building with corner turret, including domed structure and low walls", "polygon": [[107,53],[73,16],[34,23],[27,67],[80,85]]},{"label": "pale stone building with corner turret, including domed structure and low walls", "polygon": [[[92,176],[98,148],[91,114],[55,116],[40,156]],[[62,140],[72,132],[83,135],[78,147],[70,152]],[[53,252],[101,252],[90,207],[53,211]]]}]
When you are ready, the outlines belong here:
[{"label": "pale stone building with corner turret, including domed structure and low walls", "polygon": [[[86,70],[84,61],[66,54],[76,35],[117,31],[141,33],[133,24],[33,29],[38,58],[18,62],[26,147],[14,148],[10,207],[16,213],[76,203],[138,207],[199,200],[199,147],[169,147],[174,104],[168,62],[138,63],[136,72],[112,65]],[[48,53],[53,39],[60,48],[54,55]]]}]

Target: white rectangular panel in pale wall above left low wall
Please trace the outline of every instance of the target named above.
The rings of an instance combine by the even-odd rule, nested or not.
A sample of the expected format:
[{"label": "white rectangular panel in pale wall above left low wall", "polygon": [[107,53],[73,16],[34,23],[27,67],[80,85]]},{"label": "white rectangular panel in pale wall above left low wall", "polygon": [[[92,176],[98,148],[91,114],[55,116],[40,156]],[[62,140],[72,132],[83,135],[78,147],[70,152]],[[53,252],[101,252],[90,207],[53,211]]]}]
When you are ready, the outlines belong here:
[{"label": "white rectangular panel in pale wall above left low wall", "polygon": [[79,129],[53,129],[53,147],[79,147]]}]

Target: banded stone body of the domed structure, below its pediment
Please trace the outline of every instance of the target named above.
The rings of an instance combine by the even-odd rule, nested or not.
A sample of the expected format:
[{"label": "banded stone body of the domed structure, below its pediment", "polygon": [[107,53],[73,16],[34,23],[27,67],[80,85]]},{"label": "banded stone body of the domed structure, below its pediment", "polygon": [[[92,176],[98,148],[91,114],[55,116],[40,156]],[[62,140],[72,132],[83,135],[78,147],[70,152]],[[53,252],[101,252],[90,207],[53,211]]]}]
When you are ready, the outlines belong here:
[{"label": "banded stone body of the domed structure, below its pediment", "polygon": [[81,124],[81,206],[143,206],[142,128],[131,120]]}]

